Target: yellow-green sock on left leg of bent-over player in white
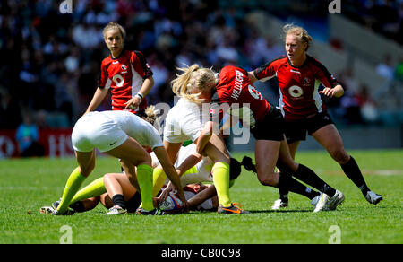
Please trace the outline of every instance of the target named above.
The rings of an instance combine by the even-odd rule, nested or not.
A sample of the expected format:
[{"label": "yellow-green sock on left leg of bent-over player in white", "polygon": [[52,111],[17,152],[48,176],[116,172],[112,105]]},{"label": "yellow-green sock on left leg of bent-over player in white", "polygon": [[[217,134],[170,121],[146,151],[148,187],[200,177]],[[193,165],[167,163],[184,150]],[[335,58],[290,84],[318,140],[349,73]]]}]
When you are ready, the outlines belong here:
[{"label": "yellow-green sock on left leg of bent-over player in white", "polygon": [[59,214],[64,214],[67,211],[73,196],[80,189],[85,179],[86,178],[80,173],[80,168],[73,170],[69,179],[67,179],[67,183],[65,184],[62,201],[57,206],[57,212]]}]

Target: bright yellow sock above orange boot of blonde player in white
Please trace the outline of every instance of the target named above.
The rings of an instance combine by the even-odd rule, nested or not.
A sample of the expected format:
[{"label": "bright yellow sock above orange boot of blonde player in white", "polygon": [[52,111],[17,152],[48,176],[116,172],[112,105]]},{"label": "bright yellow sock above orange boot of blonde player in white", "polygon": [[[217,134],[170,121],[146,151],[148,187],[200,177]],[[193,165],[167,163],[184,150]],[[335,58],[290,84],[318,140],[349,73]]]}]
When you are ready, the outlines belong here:
[{"label": "bright yellow sock above orange boot of blonde player in white", "polygon": [[216,162],[212,168],[213,182],[219,196],[219,204],[228,207],[229,198],[229,165],[226,162]]}]

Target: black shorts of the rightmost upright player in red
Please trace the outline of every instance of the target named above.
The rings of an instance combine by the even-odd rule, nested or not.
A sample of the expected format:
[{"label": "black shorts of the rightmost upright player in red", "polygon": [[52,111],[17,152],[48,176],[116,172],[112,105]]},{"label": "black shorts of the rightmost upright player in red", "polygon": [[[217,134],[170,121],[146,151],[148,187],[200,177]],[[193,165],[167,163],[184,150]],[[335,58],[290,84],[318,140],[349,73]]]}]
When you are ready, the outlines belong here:
[{"label": "black shorts of the rightmost upright player in red", "polygon": [[296,141],[306,140],[306,132],[312,135],[316,130],[333,124],[328,112],[321,112],[312,118],[304,118],[297,121],[286,121],[286,137],[287,143],[291,144]]}]

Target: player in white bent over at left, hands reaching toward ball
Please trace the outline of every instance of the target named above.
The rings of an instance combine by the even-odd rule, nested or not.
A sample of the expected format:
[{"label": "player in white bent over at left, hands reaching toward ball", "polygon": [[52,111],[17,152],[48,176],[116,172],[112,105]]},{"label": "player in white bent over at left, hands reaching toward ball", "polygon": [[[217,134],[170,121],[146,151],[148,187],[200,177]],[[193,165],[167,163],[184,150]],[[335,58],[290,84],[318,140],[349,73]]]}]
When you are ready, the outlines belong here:
[{"label": "player in white bent over at left, hands reaching toward ball", "polygon": [[[71,213],[69,205],[73,196],[95,167],[95,148],[120,159],[125,175],[133,187],[141,192],[141,214],[161,214],[152,202],[151,157],[143,146],[150,146],[156,154],[167,177],[176,186],[177,195],[186,205],[176,170],[168,158],[158,131],[133,113],[103,111],[85,114],[73,127],[72,144],[79,167],[73,170],[67,180],[61,201],[52,214]],[[116,199],[116,202],[119,201],[123,199]],[[118,205],[116,209],[119,209]]]}]

